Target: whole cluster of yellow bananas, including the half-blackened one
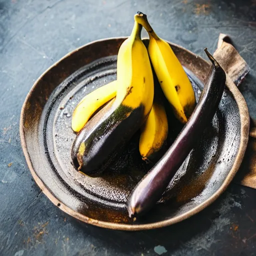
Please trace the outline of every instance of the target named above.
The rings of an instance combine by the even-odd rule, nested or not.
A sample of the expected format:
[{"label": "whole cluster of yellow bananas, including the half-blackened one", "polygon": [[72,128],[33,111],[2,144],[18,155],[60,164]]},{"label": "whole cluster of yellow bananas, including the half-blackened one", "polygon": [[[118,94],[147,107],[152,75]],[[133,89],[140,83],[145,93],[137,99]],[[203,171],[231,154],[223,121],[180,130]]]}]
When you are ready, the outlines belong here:
[{"label": "whole cluster of yellow bananas, including the half-blackened one", "polygon": [[[140,37],[142,26],[149,34],[147,48]],[[146,15],[138,12],[131,35],[118,51],[117,79],[87,94],[73,112],[71,127],[78,134],[71,156],[78,170],[86,174],[102,171],[139,128],[142,159],[150,159],[163,147],[168,123],[154,93],[149,58],[174,115],[182,123],[187,121],[195,106],[190,81],[169,44],[155,34]]]}]

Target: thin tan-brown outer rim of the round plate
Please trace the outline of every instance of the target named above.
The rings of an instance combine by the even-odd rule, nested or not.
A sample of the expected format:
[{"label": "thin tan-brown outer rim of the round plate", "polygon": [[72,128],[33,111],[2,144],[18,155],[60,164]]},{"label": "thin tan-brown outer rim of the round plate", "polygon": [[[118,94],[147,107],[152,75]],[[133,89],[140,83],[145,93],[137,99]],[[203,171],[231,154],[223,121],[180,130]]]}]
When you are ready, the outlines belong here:
[{"label": "thin tan-brown outer rim of the round plate", "polygon": [[[28,99],[30,98],[34,88],[36,87],[38,81],[50,70],[52,69],[54,66],[56,66],[57,64],[59,64],[63,59],[69,57],[71,54],[73,54],[74,52],[80,50],[81,48],[84,48],[86,46],[89,46],[93,43],[96,42],[102,42],[102,41],[106,41],[106,40],[118,40],[118,39],[125,39],[127,38],[127,36],[119,36],[119,37],[109,37],[109,38],[102,38],[102,39],[98,39],[98,40],[94,40],[91,41],[89,43],[86,43],[70,52],[68,52],[66,55],[64,55],[62,58],[60,58],[58,61],[56,61],[55,63],[53,63],[49,68],[47,68],[34,82],[33,86],[31,87],[31,89],[29,90],[29,92],[26,95],[26,98],[24,100],[24,103],[22,105],[21,108],[21,113],[20,113],[20,121],[19,121],[19,133],[20,133],[20,142],[21,142],[21,147],[28,165],[28,168],[32,174],[32,177],[34,178],[36,184],[40,187],[41,191],[50,199],[50,201],[52,203],[54,203],[58,208],[60,208],[61,210],[63,210],[64,212],[66,212],[67,214],[85,222],[85,223],[89,223],[95,226],[100,226],[100,227],[104,227],[104,228],[109,228],[109,229],[116,229],[116,230],[146,230],[146,229],[153,229],[153,228],[159,228],[159,227],[164,227],[164,226],[168,226],[174,223],[177,223],[183,219],[186,219],[196,213],[198,213],[200,210],[204,209],[205,207],[207,207],[209,204],[211,204],[228,186],[228,184],[231,182],[232,178],[234,177],[235,173],[237,172],[241,161],[243,159],[243,155],[246,149],[246,145],[248,142],[248,133],[249,133],[249,113],[248,113],[248,108],[245,102],[245,99],[243,98],[242,94],[240,93],[240,91],[238,90],[238,88],[236,87],[236,85],[230,80],[230,78],[227,76],[226,79],[226,86],[227,88],[230,90],[230,92],[232,93],[237,106],[238,106],[238,110],[239,110],[239,116],[240,116],[240,121],[241,121],[241,126],[240,126],[240,144],[239,144],[239,148],[238,148],[238,152],[235,156],[235,160],[234,163],[229,171],[229,173],[227,174],[224,182],[221,184],[221,186],[217,189],[217,191],[215,191],[209,198],[207,198],[206,200],[204,200],[203,202],[201,202],[199,205],[195,206],[194,208],[184,212],[183,214],[176,216],[176,217],[172,217],[166,220],[161,220],[161,221],[157,221],[157,222],[152,222],[152,223],[148,223],[148,224],[120,224],[120,223],[113,223],[113,222],[106,222],[106,221],[101,221],[101,220],[96,220],[96,219],[92,219],[89,218],[81,213],[76,212],[75,210],[71,209],[70,207],[68,207],[67,205],[63,204],[63,202],[59,201],[51,192],[50,190],[44,185],[43,181],[39,178],[39,176],[36,174],[32,163],[31,163],[31,159],[29,156],[29,152],[27,149],[27,145],[26,145],[26,141],[25,141],[25,134],[24,134],[24,130],[23,130],[23,123],[24,123],[24,114],[25,114],[25,107],[26,104],[28,102]],[[168,42],[168,41],[167,41]],[[168,42],[170,43],[170,42]],[[190,53],[193,56],[199,57],[200,56],[192,53],[191,51],[185,49],[184,47],[174,44],[174,43],[170,43],[174,46],[177,46],[185,51],[187,51],[188,53]],[[209,63],[204,60],[203,58],[201,58],[205,64]]]}]

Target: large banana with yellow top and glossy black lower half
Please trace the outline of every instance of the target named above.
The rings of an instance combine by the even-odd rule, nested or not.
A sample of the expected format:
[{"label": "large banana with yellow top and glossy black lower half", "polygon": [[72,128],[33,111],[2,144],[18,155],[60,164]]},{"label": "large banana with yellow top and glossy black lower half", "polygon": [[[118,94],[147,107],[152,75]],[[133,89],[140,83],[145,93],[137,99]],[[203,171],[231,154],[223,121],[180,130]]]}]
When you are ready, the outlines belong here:
[{"label": "large banana with yellow top and glossy black lower half", "polygon": [[153,74],[141,28],[134,20],[131,35],[119,48],[118,86],[111,108],[91,129],[85,131],[85,125],[74,141],[73,163],[86,174],[99,173],[114,159],[152,107]]}]

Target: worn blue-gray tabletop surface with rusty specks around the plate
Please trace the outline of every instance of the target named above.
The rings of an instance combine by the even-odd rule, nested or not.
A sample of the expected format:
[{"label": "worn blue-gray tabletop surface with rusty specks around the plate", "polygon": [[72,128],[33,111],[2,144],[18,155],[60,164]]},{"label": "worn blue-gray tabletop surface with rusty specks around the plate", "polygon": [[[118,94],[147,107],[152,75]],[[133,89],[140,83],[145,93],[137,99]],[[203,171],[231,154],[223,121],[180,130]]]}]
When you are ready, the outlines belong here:
[{"label": "worn blue-gray tabletop surface with rusty specks around the plate", "polygon": [[[0,255],[255,255],[256,191],[237,184],[173,226],[106,230],[75,220],[35,184],[19,139],[19,114],[35,79],[89,41],[129,35],[145,12],[155,31],[204,57],[229,34],[251,71],[240,86],[256,120],[255,0],[0,0]],[[144,33],[145,35],[145,33]]]}]

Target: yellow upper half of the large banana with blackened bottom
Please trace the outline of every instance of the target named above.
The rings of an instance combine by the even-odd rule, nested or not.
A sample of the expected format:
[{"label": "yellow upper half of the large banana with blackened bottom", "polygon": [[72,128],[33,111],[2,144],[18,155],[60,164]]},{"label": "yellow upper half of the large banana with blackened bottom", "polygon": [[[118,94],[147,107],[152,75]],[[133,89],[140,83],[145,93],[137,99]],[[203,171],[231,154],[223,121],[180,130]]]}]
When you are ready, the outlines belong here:
[{"label": "yellow upper half of the large banana with blackened bottom", "polygon": [[131,35],[121,44],[117,57],[117,87],[115,105],[136,108],[143,105],[144,118],[153,102],[153,74],[140,33],[141,25],[134,20]]}]

